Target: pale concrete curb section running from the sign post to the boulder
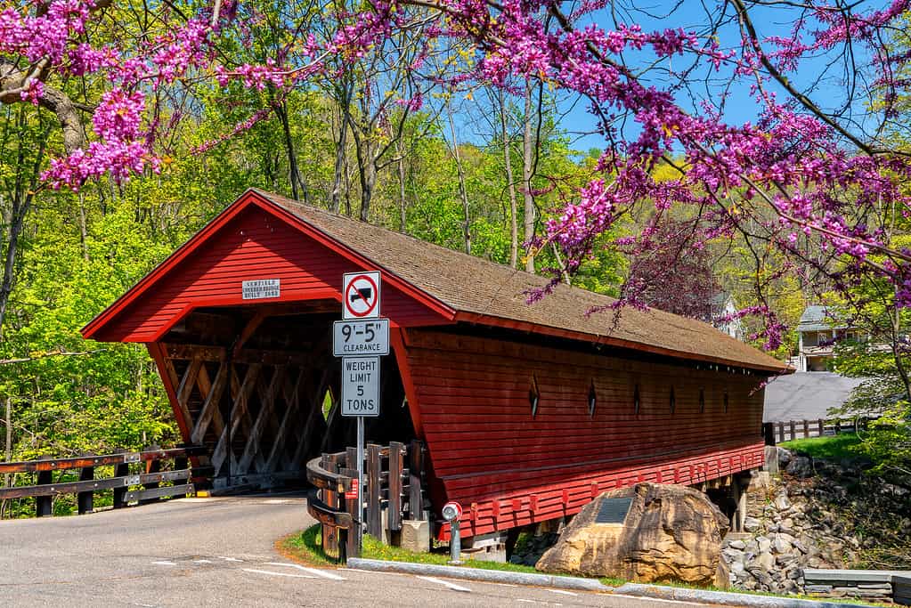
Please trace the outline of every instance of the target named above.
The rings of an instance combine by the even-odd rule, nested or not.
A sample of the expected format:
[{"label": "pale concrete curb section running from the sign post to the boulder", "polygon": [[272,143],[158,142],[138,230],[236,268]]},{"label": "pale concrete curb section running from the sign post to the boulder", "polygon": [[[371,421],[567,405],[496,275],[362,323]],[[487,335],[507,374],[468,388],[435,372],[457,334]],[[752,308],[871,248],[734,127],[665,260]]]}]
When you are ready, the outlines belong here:
[{"label": "pale concrete curb section running from the sign post to the boulder", "polygon": [[509,573],[499,570],[481,570],[461,566],[438,566],[431,563],[385,562],[383,560],[363,560],[351,558],[346,564],[353,570],[369,570],[380,573],[406,573],[424,576],[443,576],[465,581],[482,583],[527,584],[535,587],[556,587],[558,589],[575,589],[577,591],[609,592],[612,590],[594,579],[581,579],[574,576],[552,576],[550,574]]}]

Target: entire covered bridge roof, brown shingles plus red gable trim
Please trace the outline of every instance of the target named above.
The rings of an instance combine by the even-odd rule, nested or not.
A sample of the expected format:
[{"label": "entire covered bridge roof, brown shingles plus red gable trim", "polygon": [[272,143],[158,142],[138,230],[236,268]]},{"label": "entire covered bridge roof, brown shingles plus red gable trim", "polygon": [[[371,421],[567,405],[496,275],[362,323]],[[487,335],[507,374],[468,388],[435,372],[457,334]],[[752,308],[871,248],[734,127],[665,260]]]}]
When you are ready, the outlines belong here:
[{"label": "entire covered bridge roof, brown shingles plus red gable trim", "polygon": [[[502,266],[460,251],[439,247],[404,234],[379,228],[304,205],[290,198],[251,188],[202,228],[187,243],[159,264],[136,286],[82,329],[90,338],[118,317],[131,302],[175,269],[180,260],[216,234],[228,218],[255,205],[302,231],[302,238],[318,238],[364,268],[388,273],[388,280],[412,297],[421,299],[443,319],[519,329],[565,339],[643,350],[687,360],[769,373],[790,372],[782,361],[733,339],[695,319],[657,309],[624,307],[616,319],[609,309],[615,299],[585,289],[559,284],[552,293],[528,304],[529,289],[548,286],[545,277]],[[307,236],[309,235],[309,237]]]}]

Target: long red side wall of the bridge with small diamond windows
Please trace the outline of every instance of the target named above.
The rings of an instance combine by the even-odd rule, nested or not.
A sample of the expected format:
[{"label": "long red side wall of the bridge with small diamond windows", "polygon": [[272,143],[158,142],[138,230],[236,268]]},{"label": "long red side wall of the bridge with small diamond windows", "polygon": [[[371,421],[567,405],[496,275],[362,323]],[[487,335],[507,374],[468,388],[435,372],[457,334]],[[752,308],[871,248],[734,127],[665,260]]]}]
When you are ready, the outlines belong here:
[{"label": "long red side wall of the bridge with small diamond windows", "polygon": [[466,507],[466,534],[578,512],[594,493],[636,481],[695,483],[762,465],[756,376],[432,329],[406,335],[435,478],[445,500]]}]

